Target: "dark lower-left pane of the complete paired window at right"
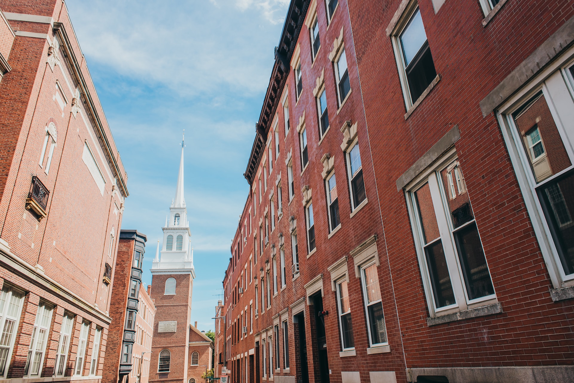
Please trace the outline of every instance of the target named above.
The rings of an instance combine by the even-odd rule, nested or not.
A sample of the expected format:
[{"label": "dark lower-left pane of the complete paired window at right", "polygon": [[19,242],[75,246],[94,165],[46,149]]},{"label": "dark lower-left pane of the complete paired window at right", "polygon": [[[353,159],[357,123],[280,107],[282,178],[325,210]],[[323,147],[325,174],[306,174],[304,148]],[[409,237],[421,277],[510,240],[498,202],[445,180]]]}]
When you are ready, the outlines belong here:
[{"label": "dark lower-left pane of the complete paired window at right", "polygon": [[436,307],[455,304],[455,294],[452,291],[451,276],[448,273],[442,241],[428,245],[425,248],[425,256]]}]

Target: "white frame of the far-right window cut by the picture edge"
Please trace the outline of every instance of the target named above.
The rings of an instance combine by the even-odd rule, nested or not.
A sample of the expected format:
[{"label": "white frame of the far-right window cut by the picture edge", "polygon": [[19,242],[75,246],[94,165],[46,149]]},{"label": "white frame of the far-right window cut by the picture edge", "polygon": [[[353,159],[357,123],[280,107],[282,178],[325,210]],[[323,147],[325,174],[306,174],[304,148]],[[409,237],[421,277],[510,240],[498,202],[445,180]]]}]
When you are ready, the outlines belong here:
[{"label": "white frame of the far-right window cut by the picture edge", "polygon": [[[572,121],[574,119],[574,113],[571,110],[572,101],[569,97],[564,96],[568,93],[574,95],[574,79],[568,70],[574,65],[573,57],[574,48],[569,48],[559,58],[554,60],[552,64],[538,73],[536,77],[530,79],[528,84],[525,84],[522,89],[509,97],[509,99],[495,111],[515,174],[517,175],[518,185],[525,201],[526,210],[529,213],[530,221],[532,222],[534,233],[538,240],[538,245],[540,245],[542,257],[546,263],[546,268],[548,269],[550,280],[554,288],[574,286],[574,273],[566,275],[560,261],[558,250],[552,239],[552,232],[544,216],[536,191],[534,190],[537,185],[536,179],[530,168],[529,159],[522,148],[522,143],[517,135],[511,115],[518,107],[529,100],[530,97],[542,91],[554,119],[554,123],[556,124],[556,128],[563,139],[568,157],[571,163],[574,164],[574,152],[572,148],[574,135],[572,134],[572,127],[565,126],[563,123],[564,121]],[[570,171],[572,167],[574,166],[571,165],[567,169],[545,179],[543,182],[548,182],[553,178],[560,177],[560,175]]]}]

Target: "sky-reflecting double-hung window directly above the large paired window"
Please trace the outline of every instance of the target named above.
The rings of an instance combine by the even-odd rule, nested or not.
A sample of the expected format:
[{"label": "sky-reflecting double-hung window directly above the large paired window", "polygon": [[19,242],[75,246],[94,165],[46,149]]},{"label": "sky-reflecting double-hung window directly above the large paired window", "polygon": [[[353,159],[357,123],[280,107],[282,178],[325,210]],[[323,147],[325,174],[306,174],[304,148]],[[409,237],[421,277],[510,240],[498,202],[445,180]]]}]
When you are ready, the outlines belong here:
[{"label": "sky-reflecting double-hung window directly above the large paired window", "polygon": [[393,38],[407,109],[416,103],[436,77],[421,11],[417,6],[411,12],[408,21]]}]

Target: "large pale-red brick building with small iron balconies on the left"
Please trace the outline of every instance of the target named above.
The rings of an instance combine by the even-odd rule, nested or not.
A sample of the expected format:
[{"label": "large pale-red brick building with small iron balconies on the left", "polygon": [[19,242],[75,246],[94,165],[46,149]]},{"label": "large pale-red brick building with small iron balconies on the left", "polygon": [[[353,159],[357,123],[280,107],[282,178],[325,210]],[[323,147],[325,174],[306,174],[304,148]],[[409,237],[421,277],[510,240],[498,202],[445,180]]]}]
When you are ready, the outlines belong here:
[{"label": "large pale-red brick building with small iron balconies on the left", "polygon": [[0,378],[99,382],[127,176],[65,4],[0,9]]}]

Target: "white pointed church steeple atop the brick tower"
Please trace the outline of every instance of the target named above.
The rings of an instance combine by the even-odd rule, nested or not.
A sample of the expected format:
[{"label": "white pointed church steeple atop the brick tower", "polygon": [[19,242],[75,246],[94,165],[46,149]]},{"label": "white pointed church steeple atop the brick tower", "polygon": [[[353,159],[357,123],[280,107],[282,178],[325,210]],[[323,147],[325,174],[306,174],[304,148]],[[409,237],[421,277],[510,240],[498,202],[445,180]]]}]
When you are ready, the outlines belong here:
[{"label": "white pointed church steeple atop the brick tower", "polygon": [[[183,150],[185,140],[181,140],[181,159],[179,174],[177,175],[176,196],[172,200],[169,208],[169,216],[166,219],[164,240],[161,249],[161,256],[152,263],[152,274],[154,273],[188,273],[191,272],[195,278],[193,268],[193,253],[191,248],[191,230],[187,220],[187,208],[185,208],[184,197],[184,170],[183,170]],[[159,247],[159,245],[158,245]]]}]

